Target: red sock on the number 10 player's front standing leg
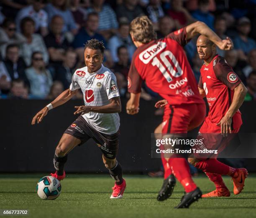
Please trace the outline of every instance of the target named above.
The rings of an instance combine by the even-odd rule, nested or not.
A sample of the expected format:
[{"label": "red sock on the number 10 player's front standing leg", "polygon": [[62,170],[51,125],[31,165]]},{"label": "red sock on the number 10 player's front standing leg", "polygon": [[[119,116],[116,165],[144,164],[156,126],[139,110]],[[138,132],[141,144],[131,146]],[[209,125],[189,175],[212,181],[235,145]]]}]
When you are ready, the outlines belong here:
[{"label": "red sock on the number 10 player's front standing leg", "polygon": [[185,158],[170,158],[169,164],[171,165],[172,173],[182,184],[185,192],[191,192],[197,188],[197,185],[192,180],[189,165]]}]

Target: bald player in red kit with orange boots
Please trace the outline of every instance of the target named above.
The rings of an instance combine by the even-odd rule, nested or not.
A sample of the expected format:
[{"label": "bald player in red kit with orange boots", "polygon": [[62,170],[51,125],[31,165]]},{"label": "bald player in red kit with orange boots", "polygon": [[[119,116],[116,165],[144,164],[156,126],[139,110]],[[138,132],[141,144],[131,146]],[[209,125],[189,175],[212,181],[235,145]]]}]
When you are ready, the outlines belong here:
[{"label": "bald player in red kit with orange boots", "polygon": [[[197,39],[197,52],[200,59],[205,62],[200,70],[198,89],[200,95],[207,98],[210,108],[200,133],[220,133],[223,137],[218,137],[219,140],[215,143],[222,143],[223,140],[228,141],[224,136],[228,136],[229,133],[238,133],[242,125],[239,108],[247,89],[226,60],[216,53],[216,45],[204,35],[200,35]],[[232,137],[232,134],[229,136]],[[248,175],[245,168],[232,168],[216,158],[207,160],[189,158],[189,163],[203,170],[215,183],[216,190],[202,197],[230,196],[221,175],[232,177],[235,195],[243,190],[244,181]]]}]

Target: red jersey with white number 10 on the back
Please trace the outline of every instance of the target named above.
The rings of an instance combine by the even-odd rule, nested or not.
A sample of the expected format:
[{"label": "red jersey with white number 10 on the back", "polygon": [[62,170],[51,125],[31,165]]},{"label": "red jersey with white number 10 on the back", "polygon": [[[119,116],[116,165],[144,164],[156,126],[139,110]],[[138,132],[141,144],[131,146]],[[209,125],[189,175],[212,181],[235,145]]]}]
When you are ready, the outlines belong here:
[{"label": "red jersey with white number 10 on the back", "polygon": [[183,50],[186,44],[186,28],[182,28],[137,48],[128,73],[128,91],[140,93],[145,80],[170,105],[204,103]]}]

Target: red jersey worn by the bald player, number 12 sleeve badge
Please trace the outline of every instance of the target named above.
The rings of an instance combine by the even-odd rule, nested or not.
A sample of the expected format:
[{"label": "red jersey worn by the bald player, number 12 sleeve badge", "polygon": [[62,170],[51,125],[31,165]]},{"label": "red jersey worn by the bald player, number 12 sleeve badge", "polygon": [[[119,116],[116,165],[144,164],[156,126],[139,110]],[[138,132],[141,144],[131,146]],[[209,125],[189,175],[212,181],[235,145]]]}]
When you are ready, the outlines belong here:
[{"label": "red jersey worn by the bald player, number 12 sleeve badge", "polygon": [[[206,93],[210,108],[208,118],[211,123],[217,124],[227,113],[232,103],[234,88],[241,83],[241,80],[226,60],[219,55],[216,55],[209,65],[203,64],[200,72],[198,86],[203,88]],[[240,113],[240,111],[238,110],[236,113]],[[241,125],[242,121],[236,121],[238,122],[234,122],[234,125],[237,126],[233,128]]]}]

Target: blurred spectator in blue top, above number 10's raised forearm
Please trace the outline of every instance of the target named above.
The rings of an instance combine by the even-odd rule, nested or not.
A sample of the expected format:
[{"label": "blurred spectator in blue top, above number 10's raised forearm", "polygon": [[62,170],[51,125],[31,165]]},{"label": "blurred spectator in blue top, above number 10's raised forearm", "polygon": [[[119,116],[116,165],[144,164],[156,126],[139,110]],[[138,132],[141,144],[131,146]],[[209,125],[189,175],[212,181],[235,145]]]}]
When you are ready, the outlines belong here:
[{"label": "blurred spectator in blue top, above number 10's raised forearm", "polygon": [[212,30],[214,25],[214,16],[209,12],[209,0],[198,0],[198,9],[192,13],[196,20],[205,22]]}]

